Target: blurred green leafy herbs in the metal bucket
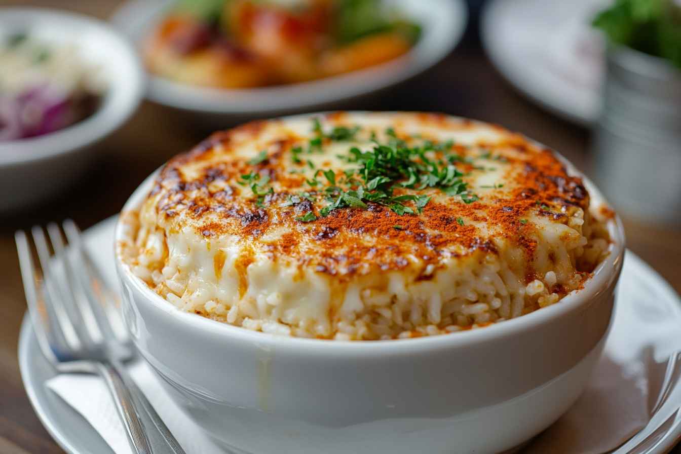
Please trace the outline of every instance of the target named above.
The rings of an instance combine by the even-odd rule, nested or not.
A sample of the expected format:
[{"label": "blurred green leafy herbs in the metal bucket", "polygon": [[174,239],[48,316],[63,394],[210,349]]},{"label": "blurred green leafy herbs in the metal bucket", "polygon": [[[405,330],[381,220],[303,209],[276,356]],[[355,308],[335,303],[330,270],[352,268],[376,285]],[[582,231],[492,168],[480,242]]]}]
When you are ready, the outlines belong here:
[{"label": "blurred green leafy herbs in the metal bucket", "polygon": [[616,44],[660,56],[681,68],[681,2],[617,0],[592,24]]}]

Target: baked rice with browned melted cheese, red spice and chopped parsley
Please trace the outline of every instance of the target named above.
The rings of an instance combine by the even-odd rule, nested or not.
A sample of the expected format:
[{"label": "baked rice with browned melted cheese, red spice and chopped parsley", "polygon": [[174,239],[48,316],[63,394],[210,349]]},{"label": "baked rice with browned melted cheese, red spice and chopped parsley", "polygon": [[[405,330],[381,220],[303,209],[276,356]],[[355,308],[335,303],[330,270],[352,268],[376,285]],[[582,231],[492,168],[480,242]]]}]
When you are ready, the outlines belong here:
[{"label": "baked rice with browned melted cheese, red spice and chopped parsley", "polygon": [[117,250],[186,312],[412,338],[560,304],[607,255],[601,208],[550,150],[501,127],[336,112],[247,123],[171,159],[123,213]]}]

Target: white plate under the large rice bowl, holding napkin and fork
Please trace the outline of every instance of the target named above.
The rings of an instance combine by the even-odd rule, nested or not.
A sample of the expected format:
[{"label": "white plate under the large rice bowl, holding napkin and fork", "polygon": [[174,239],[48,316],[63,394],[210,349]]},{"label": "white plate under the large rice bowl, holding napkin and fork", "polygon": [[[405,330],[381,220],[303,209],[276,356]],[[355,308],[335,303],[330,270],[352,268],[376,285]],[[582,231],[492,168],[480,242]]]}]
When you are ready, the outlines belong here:
[{"label": "white plate under the large rice bowl, holding napkin and fork", "polygon": [[[108,218],[84,233],[86,246],[97,265],[103,270],[106,278],[110,279],[110,282],[117,282],[112,247],[115,222],[115,217]],[[678,323],[681,325],[681,311],[679,310],[681,299],[659,274],[636,255],[627,252],[622,277],[620,278],[617,304],[633,305],[643,299],[646,300],[647,304],[655,304],[656,307],[669,314],[669,317],[677,317]],[[617,321],[616,318],[614,323],[616,324]],[[635,330],[636,326],[631,326],[629,329]],[[52,378],[55,372],[39,351],[33,334],[33,327],[28,317],[24,319],[19,338],[19,367],[35,412],[48,432],[54,437],[54,440],[57,440],[67,453],[112,453],[112,450],[99,437],[95,429],[76,410],[44,386],[46,380]],[[677,385],[676,389],[670,393],[669,400],[663,409],[660,410],[659,416],[671,413],[669,408],[681,405],[680,391],[681,385]],[[659,421],[650,423],[646,429],[636,436],[636,439],[653,432],[658,423]],[[667,452],[680,437],[681,425],[677,421],[668,432],[662,434],[659,443],[654,451],[651,451],[651,454]],[[635,442],[635,440],[632,440],[632,442]],[[622,451],[625,447],[614,454],[620,454],[620,451],[623,454],[626,452]]]}]

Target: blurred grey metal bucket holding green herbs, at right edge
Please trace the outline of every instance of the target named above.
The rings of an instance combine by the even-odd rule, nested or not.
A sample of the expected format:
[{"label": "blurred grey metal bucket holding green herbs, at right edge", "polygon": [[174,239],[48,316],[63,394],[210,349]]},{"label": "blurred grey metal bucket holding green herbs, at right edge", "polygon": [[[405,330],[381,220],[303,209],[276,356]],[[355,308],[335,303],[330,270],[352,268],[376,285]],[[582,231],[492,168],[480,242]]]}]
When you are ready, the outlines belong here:
[{"label": "blurred grey metal bucket holding green herbs, at right edge", "polygon": [[607,50],[594,135],[599,186],[623,214],[681,224],[681,71],[623,46]]}]

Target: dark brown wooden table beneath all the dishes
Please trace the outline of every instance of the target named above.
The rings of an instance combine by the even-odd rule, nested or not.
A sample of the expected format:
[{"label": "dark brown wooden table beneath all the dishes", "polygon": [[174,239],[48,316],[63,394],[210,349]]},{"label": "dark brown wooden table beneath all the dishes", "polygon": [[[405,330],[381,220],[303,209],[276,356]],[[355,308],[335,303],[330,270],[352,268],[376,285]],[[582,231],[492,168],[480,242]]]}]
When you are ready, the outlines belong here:
[{"label": "dark brown wooden table beneath all the dishes", "polygon": [[[42,5],[107,18],[118,1],[41,0],[0,2]],[[479,118],[516,129],[560,150],[590,173],[589,132],[560,120],[518,95],[492,68],[479,48],[475,27],[459,48],[426,74],[358,109],[430,110]],[[227,126],[227,125],[225,125]],[[52,220],[73,218],[94,225],[121,209],[128,195],[166,159],[202,138],[178,128],[168,112],[145,102],[129,123],[99,146],[99,161],[72,189],[24,212],[0,216],[0,453],[61,453],[38,421],[21,383],[17,341],[25,311],[14,231]],[[681,291],[681,231],[625,220],[629,248]],[[681,449],[674,452],[681,453]]]}]

